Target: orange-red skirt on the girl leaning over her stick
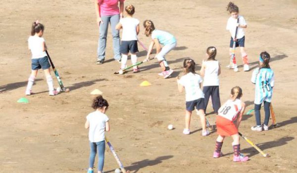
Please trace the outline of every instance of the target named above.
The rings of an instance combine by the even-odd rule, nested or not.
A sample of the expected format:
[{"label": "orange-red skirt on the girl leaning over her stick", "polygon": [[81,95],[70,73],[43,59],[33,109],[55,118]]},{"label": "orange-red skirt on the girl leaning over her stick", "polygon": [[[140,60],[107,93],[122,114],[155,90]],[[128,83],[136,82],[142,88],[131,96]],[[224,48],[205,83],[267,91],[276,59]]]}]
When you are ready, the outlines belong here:
[{"label": "orange-red skirt on the girl leaning over her stick", "polygon": [[216,118],[216,126],[217,133],[221,136],[231,136],[238,133],[238,129],[232,121],[219,115]]}]

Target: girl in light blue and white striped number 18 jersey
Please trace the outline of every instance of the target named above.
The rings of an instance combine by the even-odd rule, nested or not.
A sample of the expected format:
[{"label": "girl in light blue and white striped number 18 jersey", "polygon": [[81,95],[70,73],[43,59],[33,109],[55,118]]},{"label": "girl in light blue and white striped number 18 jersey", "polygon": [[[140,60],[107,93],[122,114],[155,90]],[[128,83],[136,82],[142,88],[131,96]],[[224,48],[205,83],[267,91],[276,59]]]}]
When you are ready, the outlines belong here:
[{"label": "girl in light blue and white striped number 18 jersey", "polygon": [[251,82],[255,84],[254,110],[256,117],[256,126],[251,130],[262,131],[260,109],[264,102],[265,120],[263,129],[268,130],[268,121],[270,117],[270,103],[272,98],[272,89],[274,87],[274,73],[269,66],[270,55],[266,51],[260,53],[260,68],[256,68],[251,77]]}]

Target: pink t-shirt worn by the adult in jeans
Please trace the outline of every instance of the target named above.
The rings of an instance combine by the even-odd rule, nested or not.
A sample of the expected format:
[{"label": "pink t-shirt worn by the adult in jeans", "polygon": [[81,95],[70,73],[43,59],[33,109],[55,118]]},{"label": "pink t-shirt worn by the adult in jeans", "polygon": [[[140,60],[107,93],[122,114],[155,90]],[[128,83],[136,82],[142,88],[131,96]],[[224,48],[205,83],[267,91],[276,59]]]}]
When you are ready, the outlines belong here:
[{"label": "pink t-shirt worn by the adult in jeans", "polygon": [[100,16],[112,16],[119,14],[119,2],[124,2],[125,0],[98,0],[100,4]]}]

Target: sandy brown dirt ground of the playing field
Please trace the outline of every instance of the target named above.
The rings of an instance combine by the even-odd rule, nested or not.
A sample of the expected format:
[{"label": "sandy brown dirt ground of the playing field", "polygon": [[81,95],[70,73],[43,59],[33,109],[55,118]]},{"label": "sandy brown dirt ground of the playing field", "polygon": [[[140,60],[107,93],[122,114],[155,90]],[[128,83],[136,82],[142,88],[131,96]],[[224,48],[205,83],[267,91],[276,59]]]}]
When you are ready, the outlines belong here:
[{"label": "sandy brown dirt ground of the playing field", "polygon": [[[297,172],[297,1],[236,0],[247,20],[246,50],[251,64],[266,50],[272,56],[275,72],[273,106],[277,129],[253,132],[254,115],[244,115],[240,131],[271,155],[264,158],[245,140],[245,163],[232,162],[231,138],[224,142],[224,157],[213,159],[213,131],[201,136],[199,118],[192,116],[190,135],[184,135],[185,93],[177,90],[182,61],[193,58],[200,69],[205,50],[214,45],[222,65],[221,102],[231,87],[243,88],[247,110],[253,108],[254,86],[251,71],[238,73],[224,67],[229,61],[230,34],[225,30],[228,0],[126,0],[136,7],[141,22],[151,19],[156,28],[169,31],[178,41],[167,55],[174,74],[170,79],[157,76],[155,61],[141,66],[141,72],[114,75],[120,65],[113,60],[111,33],[106,61],[96,65],[99,30],[93,0],[4,0],[0,7],[0,173],[84,173],[88,168],[88,130],[85,117],[92,112],[90,92],[103,92],[110,107],[110,132],[106,135],[124,166],[131,173],[296,173]],[[27,49],[31,23],[39,19],[46,27],[44,38],[53,62],[69,93],[49,96],[43,72],[38,74],[29,103],[24,97],[31,72]],[[150,39],[139,39],[147,46]],[[139,46],[139,60],[146,52]],[[239,50],[237,50],[239,57]],[[131,63],[128,61],[128,63]],[[239,64],[242,61],[239,59]],[[52,74],[52,77],[54,75]],[[148,80],[152,86],[140,87]],[[58,86],[55,80],[55,86]],[[208,107],[211,110],[211,107]],[[208,111],[209,112],[209,111]],[[214,124],[215,115],[208,120]],[[263,120],[263,112],[262,112]],[[169,124],[174,130],[167,130]],[[271,124],[271,122],[270,122]],[[96,160],[97,162],[97,160]],[[97,165],[97,164],[96,164]],[[97,166],[96,166],[97,167]],[[117,163],[106,145],[104,172],[112,173]],[[97,169],[97,168],[96,168]]]}]

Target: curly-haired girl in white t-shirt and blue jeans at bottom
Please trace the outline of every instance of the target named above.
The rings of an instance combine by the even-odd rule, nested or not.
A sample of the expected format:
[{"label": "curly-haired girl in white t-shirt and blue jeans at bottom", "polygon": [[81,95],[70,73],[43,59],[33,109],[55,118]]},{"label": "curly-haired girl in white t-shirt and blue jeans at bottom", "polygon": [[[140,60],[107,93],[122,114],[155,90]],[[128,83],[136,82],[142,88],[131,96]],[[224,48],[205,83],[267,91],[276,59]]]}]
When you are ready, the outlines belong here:
[{"label": "curly-haired girl in white t-shirt and blue jeans at bottom", "polygon": [[105,153],[105,131],[109,131],[108,117],[105,112],[108,108],[108,102],[99,95],[93,101],[92,107],[96,110],[91,112],[87,116],[85,128],[89,129],[89,140],[90,140],[90,159],[89,159],[89,170],[88,173],[93,173],[93,167],[95,162],[96,153],[98,151],[98,173],[102,173],[104,165],[104,153]]}]

